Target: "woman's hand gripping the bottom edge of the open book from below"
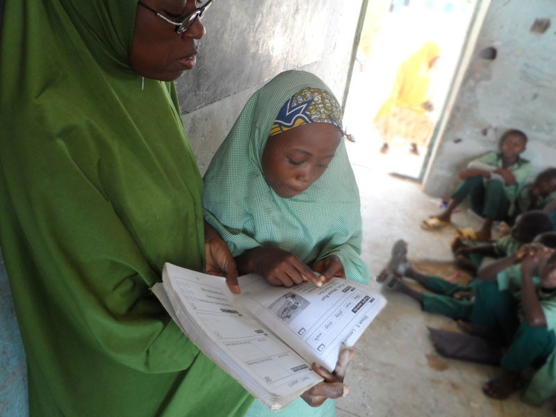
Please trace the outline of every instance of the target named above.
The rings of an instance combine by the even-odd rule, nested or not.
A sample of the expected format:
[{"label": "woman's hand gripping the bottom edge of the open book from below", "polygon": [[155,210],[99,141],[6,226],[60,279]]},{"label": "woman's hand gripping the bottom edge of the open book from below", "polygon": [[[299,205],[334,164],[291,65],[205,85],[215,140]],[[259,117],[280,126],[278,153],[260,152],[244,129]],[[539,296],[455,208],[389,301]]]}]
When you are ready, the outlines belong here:
[{"label": "woman's hand gripping the bottom edge of the open book from below", "polygon": [[345,370],[350,364],[354,353],[355,351],[351,348],[342,350],[338,357],[338,362],[336,362],[336,369],[332,373],[317,363],[313,363],[313,370],[325,380],[305,391],[301,398],[311,407],[319,407],[328,398],[341,398],[348,395],[350,388],[343,384],[343,379],[345,377]]}]

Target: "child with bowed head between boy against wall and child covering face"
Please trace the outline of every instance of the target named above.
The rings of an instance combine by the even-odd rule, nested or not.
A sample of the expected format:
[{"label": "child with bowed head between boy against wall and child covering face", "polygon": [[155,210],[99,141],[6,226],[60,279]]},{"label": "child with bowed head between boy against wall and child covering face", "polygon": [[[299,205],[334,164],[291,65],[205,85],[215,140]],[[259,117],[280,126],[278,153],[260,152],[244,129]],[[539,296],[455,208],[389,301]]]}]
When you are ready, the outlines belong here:
[{"label": "child with bowed head between boy against wall and child covering face", "polygon": [[517,252],[521,245],[531,243],[535,236],[551,230],[553,230],[553,221],[550,216],[544,211],[532,210],[518,215],[509,235],[486,245],[466,243],[456,238],[452,243],[452,252],[454,252],[456,265],[475,276],[485,256],[491,258],[509,256]]}]

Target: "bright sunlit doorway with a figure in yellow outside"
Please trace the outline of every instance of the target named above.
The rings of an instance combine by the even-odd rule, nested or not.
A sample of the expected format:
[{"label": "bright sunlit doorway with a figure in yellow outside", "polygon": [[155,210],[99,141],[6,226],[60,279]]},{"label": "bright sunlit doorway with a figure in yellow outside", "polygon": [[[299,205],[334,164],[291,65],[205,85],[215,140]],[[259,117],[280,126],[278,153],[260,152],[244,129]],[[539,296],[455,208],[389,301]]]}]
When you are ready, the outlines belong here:
[{"label": "bright sunlit doorway with a figure in yellow outside", "polygon": [[422,177],[476,3],[368,1],[344,118],[352,163]]}]

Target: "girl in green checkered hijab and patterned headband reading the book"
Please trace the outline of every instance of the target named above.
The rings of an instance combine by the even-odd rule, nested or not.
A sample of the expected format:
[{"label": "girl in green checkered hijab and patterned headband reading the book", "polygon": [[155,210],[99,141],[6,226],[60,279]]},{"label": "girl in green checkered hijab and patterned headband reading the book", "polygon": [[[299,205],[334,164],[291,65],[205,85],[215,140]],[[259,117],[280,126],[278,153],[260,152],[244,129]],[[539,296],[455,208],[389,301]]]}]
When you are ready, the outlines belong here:
[{"label": "girl in green checkered hijab and patterned headband reading the book", "polygon": [[[308,72],[283,72],[247,101],[208,167],[203,197],[205,219],[240,275],[258,272],[284,286],[320,286],[334,275],[368,283],[341,118],[327,85]],[[332,400],[311,408],[299,399],[277,414],[255,402],[248,415],[335,414]]]}]

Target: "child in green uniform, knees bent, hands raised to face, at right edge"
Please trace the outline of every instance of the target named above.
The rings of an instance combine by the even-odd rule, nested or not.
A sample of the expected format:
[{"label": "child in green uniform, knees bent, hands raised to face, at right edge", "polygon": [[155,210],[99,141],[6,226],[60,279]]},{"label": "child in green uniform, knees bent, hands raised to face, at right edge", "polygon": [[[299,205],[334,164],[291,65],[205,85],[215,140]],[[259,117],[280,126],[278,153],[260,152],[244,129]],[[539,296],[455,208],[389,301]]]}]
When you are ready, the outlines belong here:
[{"label": "child in green uniform, knees bent, hands raised to face, at right edge", "polygon": [[[477,288],[469,328],[478,325],[507,346],[502,373],[482,387],[489,397],[504,400],[521,386],[525,368],[545,365],[555,350],[556,252],[536,243],[525,245],[518,254],[487,265],[479,277],[483,284]],[[511,291],[512,283],[518,293]],[[554,382],[552,387],[534,383],[525,398],[543,395],[539,390],[553,394],[554,388]]]}]

